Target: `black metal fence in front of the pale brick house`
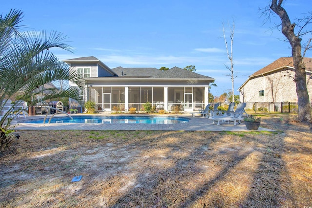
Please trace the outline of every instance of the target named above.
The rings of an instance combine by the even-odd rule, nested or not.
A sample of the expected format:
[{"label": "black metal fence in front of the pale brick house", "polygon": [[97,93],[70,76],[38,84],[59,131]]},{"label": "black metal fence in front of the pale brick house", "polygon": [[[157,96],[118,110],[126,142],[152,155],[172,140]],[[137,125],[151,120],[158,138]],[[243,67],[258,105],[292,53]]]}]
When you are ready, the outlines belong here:
[{"label": "black metal fence in front of the pale brick house", "polygon": [[[220,103],[220,106],[227,108],[229,103]],[[246,103],[245,111],[246,113],[298,113],[298,102]]]}]

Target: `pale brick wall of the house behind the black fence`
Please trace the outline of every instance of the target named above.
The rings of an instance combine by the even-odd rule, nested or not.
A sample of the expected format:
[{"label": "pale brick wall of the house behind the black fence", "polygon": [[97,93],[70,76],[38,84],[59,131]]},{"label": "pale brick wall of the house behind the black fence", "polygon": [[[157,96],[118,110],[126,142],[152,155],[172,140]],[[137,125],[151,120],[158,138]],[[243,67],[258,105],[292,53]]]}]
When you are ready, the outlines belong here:
[{"label": "pale brick wall of the house behind the black fence", "polygon": [[[240,91],[240,102],[283,102],[298,101],[296,84],[293,81],[295,72],[292,69],[275,71],[272,74],[258,76],[250,79]],[[311,74],[307,73],[307,88],[312,97]],[[259,96],[259,91],[264,91],[264,96]]]}]

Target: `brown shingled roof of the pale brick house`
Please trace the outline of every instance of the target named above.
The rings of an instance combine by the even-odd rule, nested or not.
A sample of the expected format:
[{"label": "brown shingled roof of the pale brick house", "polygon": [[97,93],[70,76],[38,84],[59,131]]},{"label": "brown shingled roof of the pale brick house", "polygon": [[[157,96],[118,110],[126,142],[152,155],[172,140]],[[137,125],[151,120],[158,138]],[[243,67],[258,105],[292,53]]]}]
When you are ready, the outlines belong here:
[{"label": "brown shingled roof of the pale brick house", "polygon": [[[304,63],[306,64],[306,70],[312,71],[312,58],[304,58]],[[282,57],[274,61],[273,63],[263,67],[259,71],[256,71],[254,74],[252,74],[249,77],[254,77],[262,74],[266,74],[269,72],[273,72],[278,69],[283,68],[294,68],[293,66],[293,60],[292,57]]]}]

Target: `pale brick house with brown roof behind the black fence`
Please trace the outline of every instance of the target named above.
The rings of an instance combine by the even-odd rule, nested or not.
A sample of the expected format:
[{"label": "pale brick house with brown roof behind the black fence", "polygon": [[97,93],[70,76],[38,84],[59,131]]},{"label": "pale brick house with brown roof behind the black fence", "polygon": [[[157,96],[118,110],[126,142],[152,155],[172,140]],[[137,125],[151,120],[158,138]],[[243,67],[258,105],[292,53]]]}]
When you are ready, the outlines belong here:
[{"label": "pale brick house with brown roof behind the black fence", "polygon": [[[312,58],[304,58],[308,94],[312,98]],[[297,102],[292,57],[279,58],[255,72],[238,89],[240,102]]]}]

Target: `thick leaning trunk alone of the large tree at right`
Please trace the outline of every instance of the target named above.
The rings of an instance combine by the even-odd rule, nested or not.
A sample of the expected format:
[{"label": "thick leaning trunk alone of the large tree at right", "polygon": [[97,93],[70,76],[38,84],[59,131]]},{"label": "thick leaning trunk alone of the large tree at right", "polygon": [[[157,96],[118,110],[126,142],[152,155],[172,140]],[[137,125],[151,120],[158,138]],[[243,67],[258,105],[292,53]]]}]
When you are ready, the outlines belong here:
[{"label": "thick leaning trunk alone of the large tree at right", "polygon": [[283,0],[272,0],[271,9],[282,20],[282,33],[292,47],[292,60],[295,69],[296,92],[298,96],[298,119],[301,122],[311,121],[311,106],[306,82],[306,70],[301,55],[301,38],[294,33],[295,24],[291,24],[286,10],[281,6]]}]

